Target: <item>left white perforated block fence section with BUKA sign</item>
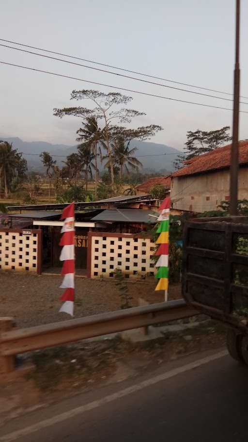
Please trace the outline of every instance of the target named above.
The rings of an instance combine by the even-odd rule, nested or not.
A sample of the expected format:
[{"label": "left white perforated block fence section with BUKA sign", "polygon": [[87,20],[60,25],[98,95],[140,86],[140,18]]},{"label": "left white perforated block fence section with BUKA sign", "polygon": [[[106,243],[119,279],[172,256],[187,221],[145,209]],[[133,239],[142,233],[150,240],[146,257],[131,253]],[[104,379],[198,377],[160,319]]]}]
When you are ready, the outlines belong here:
[{"label": "left white perforated block fence section with BUKA sign", "polygon": [[0,269],[41,273],[42,232],[0,229]]}]

